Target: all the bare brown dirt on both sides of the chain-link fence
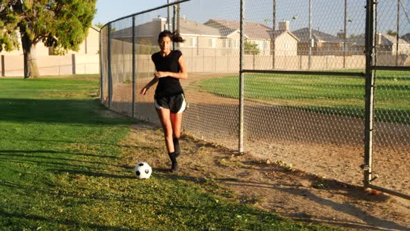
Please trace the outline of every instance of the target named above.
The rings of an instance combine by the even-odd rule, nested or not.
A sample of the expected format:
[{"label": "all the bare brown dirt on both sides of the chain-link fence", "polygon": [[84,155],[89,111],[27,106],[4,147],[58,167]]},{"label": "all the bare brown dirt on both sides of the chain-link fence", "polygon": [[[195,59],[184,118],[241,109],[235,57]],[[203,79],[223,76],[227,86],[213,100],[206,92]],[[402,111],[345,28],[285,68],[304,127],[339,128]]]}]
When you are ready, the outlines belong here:
[{"label": "all the bare brown dirt on both sides of the chain-link fence", "polygon": [[[238,99],[200,92],[197,83],[226,75],[229,74],[190,74],[182,82],[190,103],[183,127],[190,134],[182,141],[185,146],[181,172],[171,177],[218,184],[233,191],[235,200],[302,221],[363,230],[410,230],[409,200],[383,193],[369,195],[360,187],[362,119],[247,101],[246,154],[238,156],[232,150],[212,145],[233,150],[238,147]],[[118,84],[112,109],[131,115],[131,93],[129,84]],[[153,94],[154,86],[148,95],[138,98],[138,118],[157,122]],[[266,115],[270,117],[267,119]],[[393,123],[377,129],[374,162],[381,177],[373,183],[409,192],[409,147],[383,143],[407,140],[409,129],[408,125]],[[188,138],[190,135],[208,143]],[[133,153],[127,164],[146,160],[157,172],[165,172],[170,161],[163,143],[161,129],[136,125],[124,143],[132,144],[129,147]],[[229,193],[225,195],[222,190],[221,195]]]}]

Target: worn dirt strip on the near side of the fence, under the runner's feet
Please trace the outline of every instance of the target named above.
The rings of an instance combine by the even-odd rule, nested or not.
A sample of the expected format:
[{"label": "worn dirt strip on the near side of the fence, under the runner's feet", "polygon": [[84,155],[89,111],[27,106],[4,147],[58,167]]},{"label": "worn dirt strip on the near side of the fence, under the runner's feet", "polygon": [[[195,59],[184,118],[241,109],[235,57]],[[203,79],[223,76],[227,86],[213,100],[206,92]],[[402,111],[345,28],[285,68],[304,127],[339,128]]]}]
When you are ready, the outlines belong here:
[{"label": "worn dirt strip on the near side of the fence, under the runner's feet", "polygon": [[357,186],[309,175],[281,162],[237,155],[188,136],[181,138],[180,171],[170,174],[163,134],[156,125],[133,125],[123,143],[128,154],[124,164],[147,161],[154,168],[153,177],[163,174],[213,184],[217,187],[212,192],[225,198],[309,223],[353,230],[410,230],[408,200],[371,195]]}]

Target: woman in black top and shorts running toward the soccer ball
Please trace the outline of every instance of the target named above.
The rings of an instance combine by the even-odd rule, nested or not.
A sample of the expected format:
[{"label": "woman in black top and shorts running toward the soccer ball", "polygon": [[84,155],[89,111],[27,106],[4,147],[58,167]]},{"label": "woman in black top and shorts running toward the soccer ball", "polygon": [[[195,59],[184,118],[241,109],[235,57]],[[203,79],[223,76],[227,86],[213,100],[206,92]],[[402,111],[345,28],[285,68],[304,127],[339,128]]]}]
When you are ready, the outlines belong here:
[{"label": "woman in black top and shorts running toward the soccer ball", "polygon": [[154,79],[149,81],[140,94],[145,95],[147,90],[156,82],[154,101],[159,120],[163,126],[165,145],[172,166],[171,172],[178,171],[177,157],[181,153],[179,136],[181,135],[182,112],[186,109],[185,97],[179,79],[186,79],[186,64],[179,50],[171,50],[172,42],[183,42],[178,32],[162,31],[158,35],[158,45],[161,51],[151,56],[156,72]]}]

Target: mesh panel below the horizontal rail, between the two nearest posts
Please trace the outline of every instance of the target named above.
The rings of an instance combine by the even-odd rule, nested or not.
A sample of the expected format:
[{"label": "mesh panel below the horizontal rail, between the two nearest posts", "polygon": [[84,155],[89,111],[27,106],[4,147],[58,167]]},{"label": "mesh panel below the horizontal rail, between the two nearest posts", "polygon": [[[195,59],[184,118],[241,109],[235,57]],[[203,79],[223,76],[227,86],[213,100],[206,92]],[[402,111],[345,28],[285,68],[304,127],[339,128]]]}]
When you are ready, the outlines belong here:
[{"label": "mesh panel below the horizontal rail, between the two nearest posts", "polygon": [[359,184],[363,93],[363,77],[246,74],[245,151]]}]

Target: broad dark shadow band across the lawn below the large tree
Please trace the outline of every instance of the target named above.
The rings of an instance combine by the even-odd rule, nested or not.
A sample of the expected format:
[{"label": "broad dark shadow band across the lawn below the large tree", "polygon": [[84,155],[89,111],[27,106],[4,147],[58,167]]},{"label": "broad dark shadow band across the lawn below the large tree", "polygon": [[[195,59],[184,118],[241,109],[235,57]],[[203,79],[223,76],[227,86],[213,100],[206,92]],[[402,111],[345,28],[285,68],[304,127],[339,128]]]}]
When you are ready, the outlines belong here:
[{"label": "broad dark shadow band across the lawn below the large tree", "polygon": [[129,124],[119,113],[107,113],[99,99],[0,98],[0,122],[56,122],[89,125]]}]

